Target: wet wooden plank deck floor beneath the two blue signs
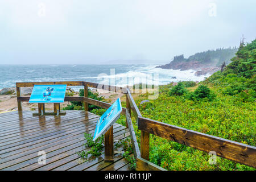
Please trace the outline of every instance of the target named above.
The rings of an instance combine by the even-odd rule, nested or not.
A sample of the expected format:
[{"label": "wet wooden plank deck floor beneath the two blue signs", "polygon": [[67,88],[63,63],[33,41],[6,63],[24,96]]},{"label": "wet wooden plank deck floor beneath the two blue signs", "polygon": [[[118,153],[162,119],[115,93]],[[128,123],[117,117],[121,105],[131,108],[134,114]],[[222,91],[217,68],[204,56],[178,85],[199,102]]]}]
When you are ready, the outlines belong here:
[{"label": "wet wooden plank deck floor beneath the two blue signs", "polygon": [[[67,110],[66,115],[33,117],[35,111],[0,114],[0,170],[128,170],[121,154],[104,162],[104,154],[82,162],[76,152],[88,150],[84,133],[93,134],[98,115]],[[114,124],[114,140],[129,136],[129,130]],[[114,151],[122,151],[122,147]],[[46,164],[39,164],[39,151],[46,152]]]}]

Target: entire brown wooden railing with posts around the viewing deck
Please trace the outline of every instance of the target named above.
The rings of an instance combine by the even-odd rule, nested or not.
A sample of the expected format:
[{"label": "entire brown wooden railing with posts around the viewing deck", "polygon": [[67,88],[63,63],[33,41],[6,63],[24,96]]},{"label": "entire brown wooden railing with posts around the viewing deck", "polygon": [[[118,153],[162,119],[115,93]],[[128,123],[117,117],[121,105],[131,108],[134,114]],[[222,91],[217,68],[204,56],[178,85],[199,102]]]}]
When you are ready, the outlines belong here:
[{"label": "entire brown wooden railing with posts around the viewing deck", "polygon": [[[214,151],[216,152],[216,155],[221,158],[233,160],[234,162],[256,168],[256,147],[144,118],[135,104],[129,88],[101,85],[86,81],[17,82],[16,90],[18,110],[22,110],[21,102],[28,102],[30,99],[28,96],[20,96],[21,87],[54,84],[84,86],[84,97],[65,97],[64,101],[84,102],[84,108],[86,111],[88,110],[88,104],[100,106],[105,109],[108,109],[111,106],[111,104],[106,102],[88,98],[88,87],[126,94],[126,108],[123,107],[122,114],[126,115],[126,126],[129,128],[130,137],[133,143],[134,156],[137,159],[137,170],[164,170],[163,168],[148,161],[150,134],[166,138],[204,152]],[[133,128],[133,122],[131,121],[131,111],[133,111],[134,118],[137,121],[138,129],[141,130],[141,150],[139,150]]]}]

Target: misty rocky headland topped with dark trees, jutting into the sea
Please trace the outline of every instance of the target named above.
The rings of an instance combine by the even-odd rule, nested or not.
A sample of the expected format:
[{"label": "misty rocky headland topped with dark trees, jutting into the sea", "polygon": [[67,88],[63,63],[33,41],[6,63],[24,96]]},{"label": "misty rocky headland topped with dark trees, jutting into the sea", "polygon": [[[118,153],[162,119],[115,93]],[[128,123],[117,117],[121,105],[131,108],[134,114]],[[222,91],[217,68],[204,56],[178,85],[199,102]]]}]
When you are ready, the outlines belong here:
[{"label": "misty rocky headland topped with dark trees, jutting into the sea", "polygon": [[219,48],[216,50],[209,50],[195,55],[189,56],[188,59],[184,55],[174,56],[174,59],[165,65],[157,66],[156,68],[162,69],[180,69],[185,71],[193,69],[196,71],[195,75],[207,75],[220,70],[221,64],[229,64],[230,59],[237,52],[237,48]]}]

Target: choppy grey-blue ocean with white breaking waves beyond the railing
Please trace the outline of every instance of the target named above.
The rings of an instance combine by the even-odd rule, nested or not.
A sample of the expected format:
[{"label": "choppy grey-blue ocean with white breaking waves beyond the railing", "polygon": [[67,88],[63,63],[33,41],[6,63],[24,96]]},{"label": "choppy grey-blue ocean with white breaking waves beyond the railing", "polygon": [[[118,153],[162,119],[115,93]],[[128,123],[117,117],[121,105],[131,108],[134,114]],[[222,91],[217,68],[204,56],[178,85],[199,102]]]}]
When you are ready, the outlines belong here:
[{"label": "choppy grey-blue ocean with white breaking waves beyond the railing", "polygon": [[155,67],[154,64],[0,65],[0,89],[15,86],[15,82],[36,81],[89,81],[115,86],[139,82],[164,85],[172,81],[202,81],[209,76],[195,76],[192,70]]}]

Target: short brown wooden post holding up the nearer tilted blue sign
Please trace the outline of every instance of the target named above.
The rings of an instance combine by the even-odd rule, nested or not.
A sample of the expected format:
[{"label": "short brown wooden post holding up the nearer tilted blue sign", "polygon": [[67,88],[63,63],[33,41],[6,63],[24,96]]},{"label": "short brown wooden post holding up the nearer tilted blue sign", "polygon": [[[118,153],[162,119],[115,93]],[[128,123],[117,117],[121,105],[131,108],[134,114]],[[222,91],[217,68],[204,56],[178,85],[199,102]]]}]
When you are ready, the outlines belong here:
[{"label": "short brown wooden post holding up the nearer tilted blue sign", "polygon": [[105,162],[114,162],[113,126],[105,133]]}]

